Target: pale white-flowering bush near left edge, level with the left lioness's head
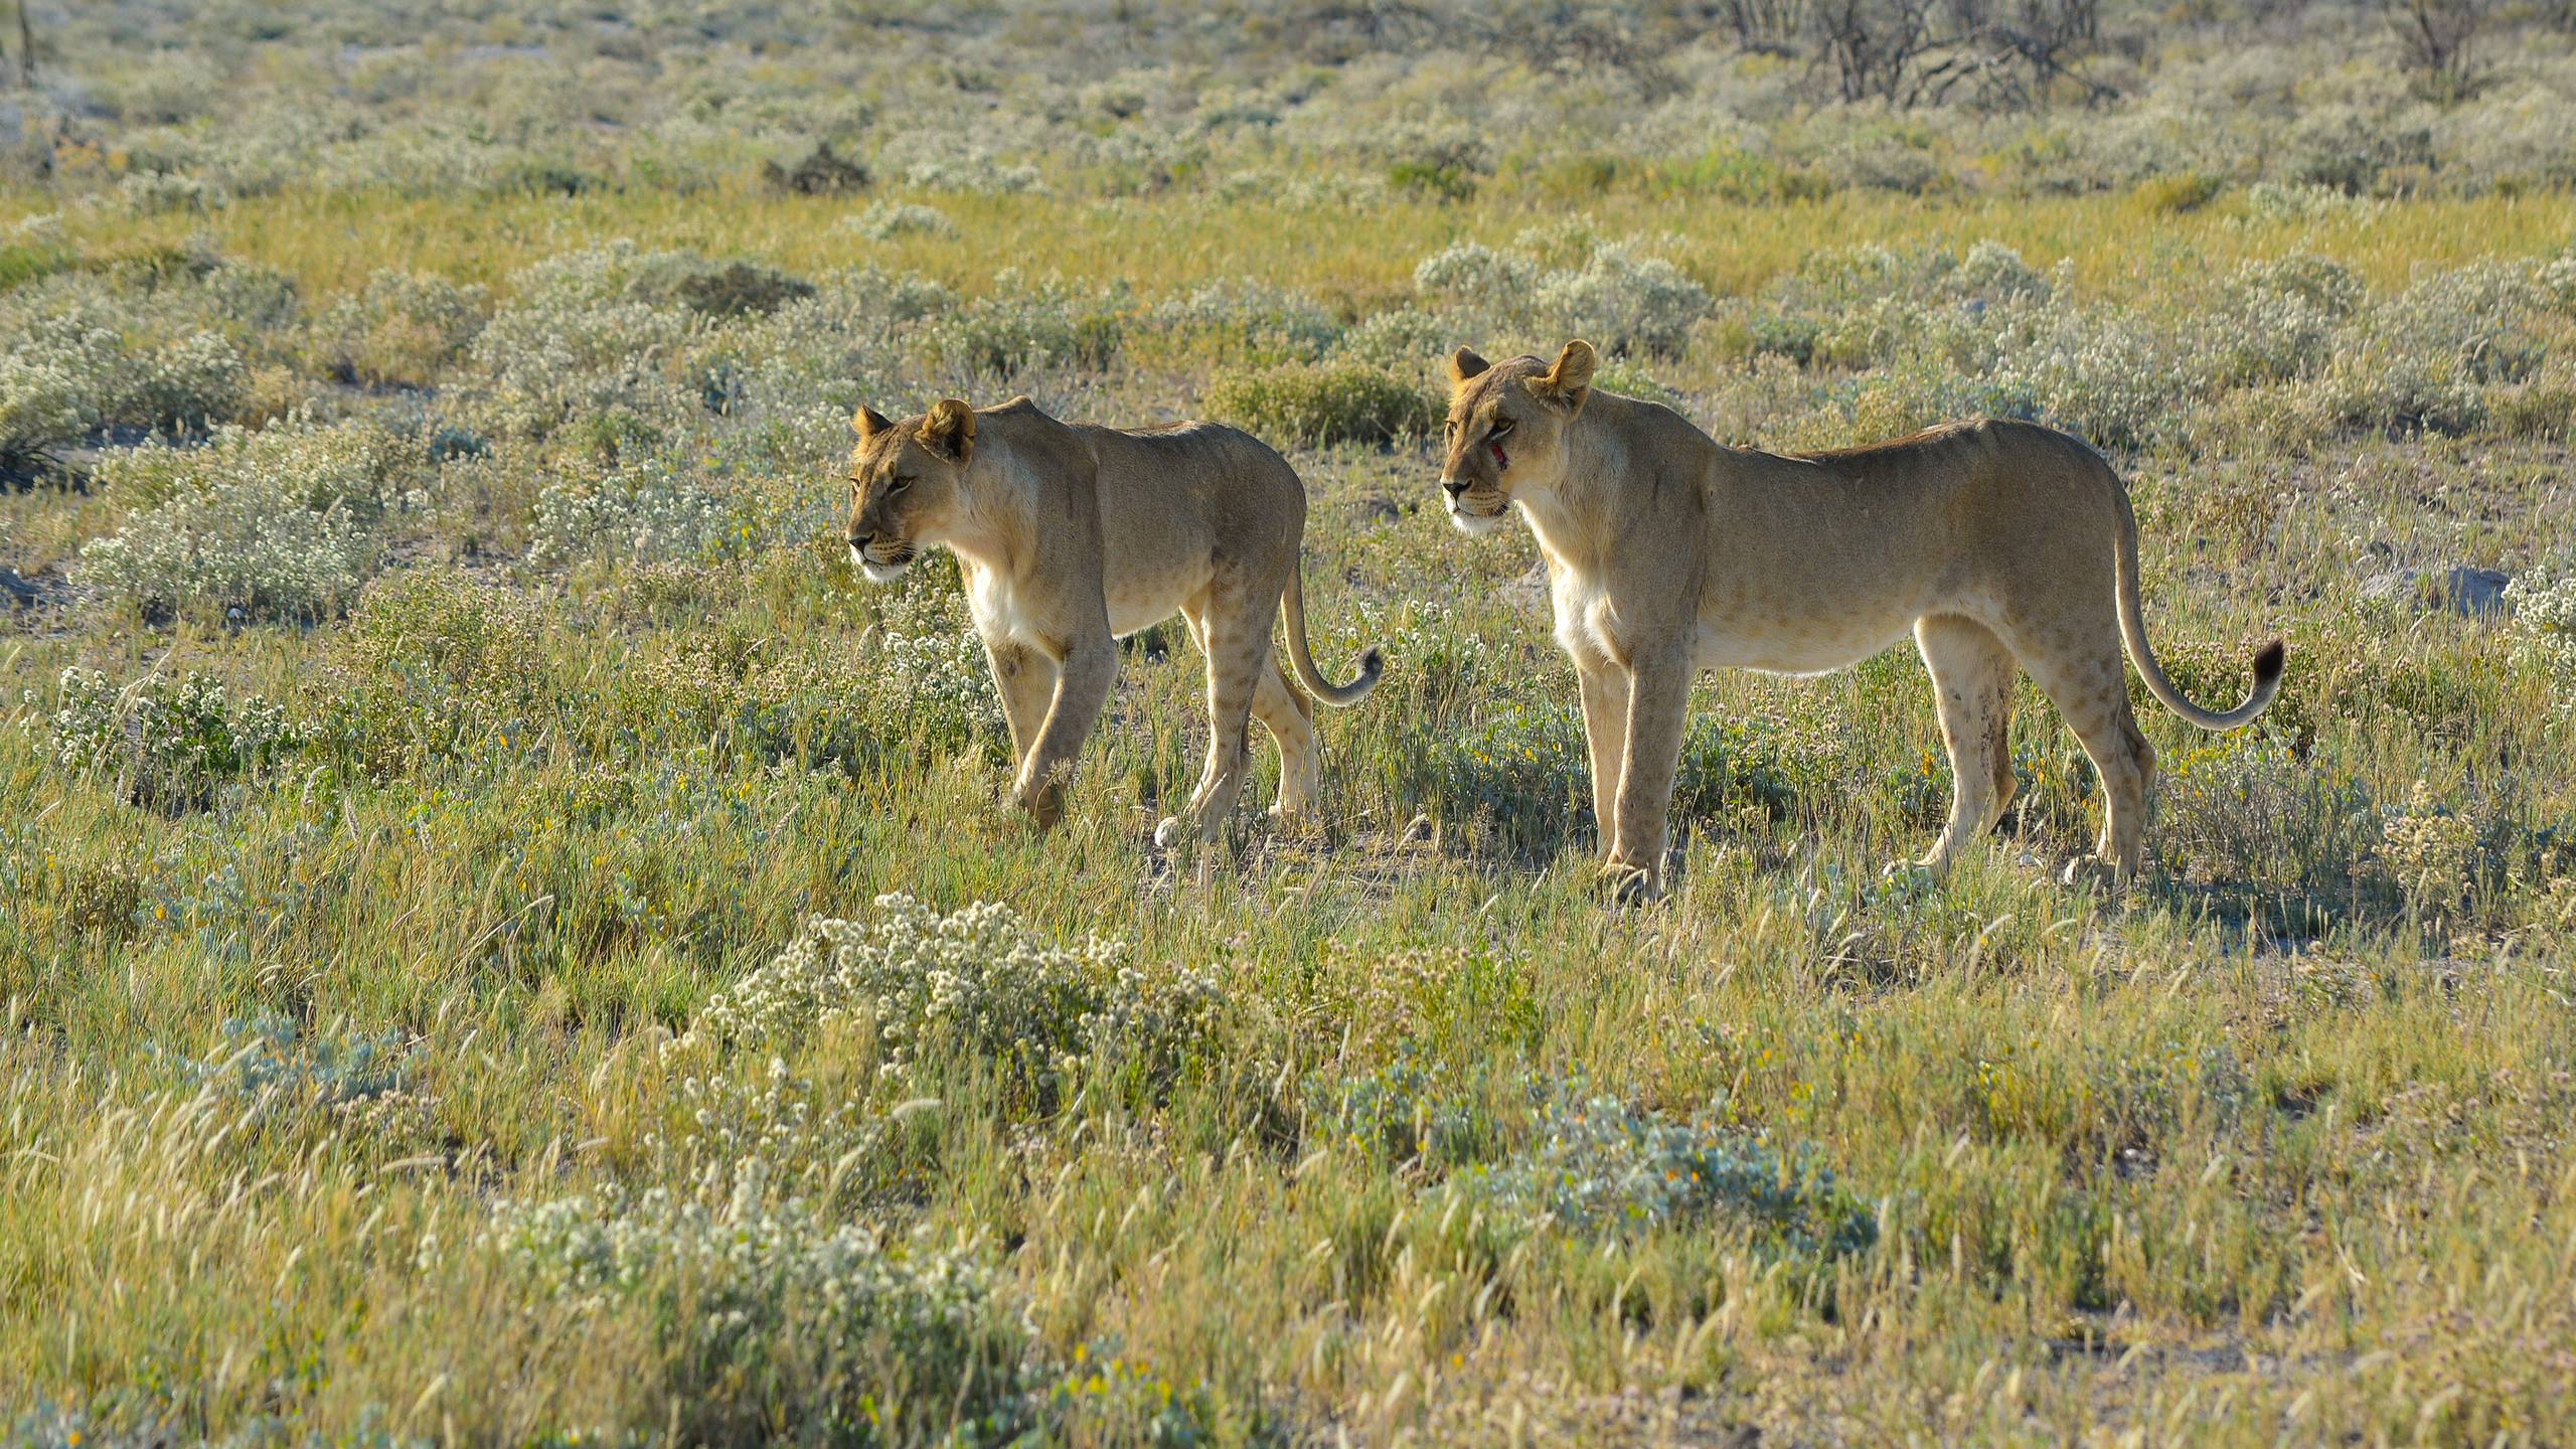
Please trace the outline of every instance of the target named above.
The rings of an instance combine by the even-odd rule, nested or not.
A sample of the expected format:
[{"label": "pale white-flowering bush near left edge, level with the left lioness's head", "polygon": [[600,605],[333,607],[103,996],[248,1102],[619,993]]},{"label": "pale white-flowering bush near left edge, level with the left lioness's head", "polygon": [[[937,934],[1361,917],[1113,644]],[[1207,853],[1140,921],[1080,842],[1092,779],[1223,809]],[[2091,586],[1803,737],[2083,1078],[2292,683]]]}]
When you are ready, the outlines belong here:
[{"label": "pale white-flowering bush near left edge, level with the left lioness's head", "polygon": [[309,418],[113,454],[98,487],[134,513],[80,549],[75,578],[144,614],[337,614],[381,567],[381,523],[417,459],[381,428]]}]

